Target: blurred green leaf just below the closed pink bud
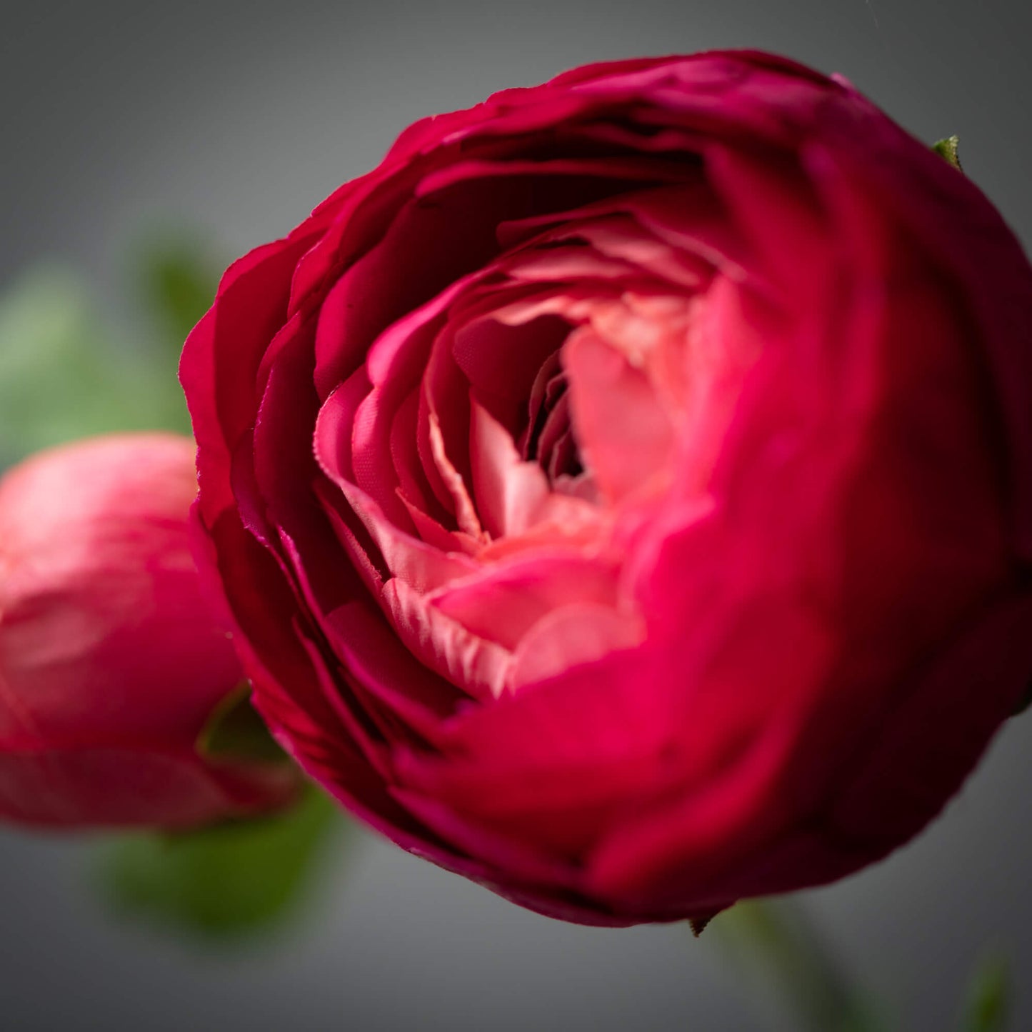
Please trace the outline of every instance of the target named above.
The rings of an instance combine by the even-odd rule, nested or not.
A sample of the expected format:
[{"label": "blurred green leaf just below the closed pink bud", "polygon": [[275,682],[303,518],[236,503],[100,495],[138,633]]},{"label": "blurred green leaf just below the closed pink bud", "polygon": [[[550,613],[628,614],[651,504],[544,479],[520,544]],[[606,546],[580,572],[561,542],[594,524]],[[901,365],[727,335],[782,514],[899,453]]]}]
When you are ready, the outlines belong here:
[{"label": "blurred green leaf just below the closed pink bud", "polygon": [[101,888],[124,917],[238,941],[282,928],[296,913],[342,825],[333,803],[305,785],[281,813],[122,838],[102,857]]}]

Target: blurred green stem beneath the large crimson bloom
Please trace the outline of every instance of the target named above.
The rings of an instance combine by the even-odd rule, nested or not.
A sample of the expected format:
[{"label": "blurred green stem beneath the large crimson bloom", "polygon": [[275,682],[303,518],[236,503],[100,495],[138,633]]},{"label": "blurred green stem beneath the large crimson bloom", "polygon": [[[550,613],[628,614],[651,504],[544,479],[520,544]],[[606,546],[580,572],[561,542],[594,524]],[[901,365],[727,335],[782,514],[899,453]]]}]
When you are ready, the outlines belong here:
[{"label": "blurred green stem beneath the large crimson bloom", "polygon": [[707,933],[767,983],[800,1032],[880,1032],[870,1000],[853,987],[798,902],[750,900],[721,913]]}]

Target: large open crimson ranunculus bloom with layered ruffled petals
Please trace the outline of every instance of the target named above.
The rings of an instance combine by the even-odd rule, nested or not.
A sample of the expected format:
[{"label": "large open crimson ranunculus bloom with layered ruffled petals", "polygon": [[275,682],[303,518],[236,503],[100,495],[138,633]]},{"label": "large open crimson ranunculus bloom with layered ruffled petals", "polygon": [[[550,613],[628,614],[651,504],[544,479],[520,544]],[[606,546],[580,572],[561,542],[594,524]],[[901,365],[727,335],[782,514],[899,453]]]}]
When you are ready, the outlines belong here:
[{"label": "large open crimson ranunculus bloom with layered ruffled petals", "polygon": [[826,882],[1032,672],[1032,270],[852,87],[593,65],[408,129],[183,357],[257,705],[534,909]]}]

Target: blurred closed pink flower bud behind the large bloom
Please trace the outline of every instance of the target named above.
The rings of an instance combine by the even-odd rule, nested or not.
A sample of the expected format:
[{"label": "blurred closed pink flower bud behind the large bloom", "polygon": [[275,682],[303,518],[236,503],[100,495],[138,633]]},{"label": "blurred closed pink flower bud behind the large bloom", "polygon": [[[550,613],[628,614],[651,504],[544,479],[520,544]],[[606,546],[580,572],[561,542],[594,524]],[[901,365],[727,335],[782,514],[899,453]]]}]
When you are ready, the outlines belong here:
[{"label": "blurred closed pink flower bud behind the large bloom", "polygon": [[291,765],[197,749],[243,673],[191,556],[193,458],[117,434],[0,480],[0,818],[182,828],[292,798]]}]

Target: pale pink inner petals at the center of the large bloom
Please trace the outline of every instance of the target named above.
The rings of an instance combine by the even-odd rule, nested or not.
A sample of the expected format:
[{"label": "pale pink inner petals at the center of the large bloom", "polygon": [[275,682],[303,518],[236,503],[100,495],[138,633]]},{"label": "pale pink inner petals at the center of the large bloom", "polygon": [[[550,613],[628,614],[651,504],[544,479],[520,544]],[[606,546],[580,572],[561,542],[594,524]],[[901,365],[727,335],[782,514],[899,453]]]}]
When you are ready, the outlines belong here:
[{"label": "pale pink inner petals at the center of the large bloom", "polygon": [[739,241],[659,231],[669,197],[643,193],[508,224],[524,243],[388,326],[320,413],[334,529],[413,654],[482,701],[643,640],[610,535],[675,476],[705,487],[755,359]]}]

